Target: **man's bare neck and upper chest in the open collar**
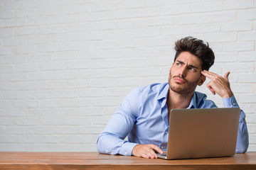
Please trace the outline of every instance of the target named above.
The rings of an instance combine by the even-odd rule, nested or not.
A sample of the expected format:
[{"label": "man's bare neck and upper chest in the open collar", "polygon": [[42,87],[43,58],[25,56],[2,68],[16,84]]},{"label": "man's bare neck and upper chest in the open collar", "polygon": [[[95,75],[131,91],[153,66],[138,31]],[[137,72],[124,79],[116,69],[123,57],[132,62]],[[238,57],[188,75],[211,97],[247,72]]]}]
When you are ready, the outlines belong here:
[{"label": "man's bare neck and upper chest in the open collar", "polygon": [[193,92],[191,94],[178,94],[169,88],[166,103],[168,111],[170,112],[173,108],[188,108],[192,96]]}]

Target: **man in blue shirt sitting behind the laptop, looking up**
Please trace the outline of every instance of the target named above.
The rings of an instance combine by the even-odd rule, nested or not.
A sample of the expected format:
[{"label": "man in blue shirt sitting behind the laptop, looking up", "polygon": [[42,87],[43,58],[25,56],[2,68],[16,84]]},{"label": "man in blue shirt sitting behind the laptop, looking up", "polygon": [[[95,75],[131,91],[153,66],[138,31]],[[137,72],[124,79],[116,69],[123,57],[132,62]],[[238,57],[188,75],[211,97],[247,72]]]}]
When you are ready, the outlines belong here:
[{"label": "man in blue shirt sitting behind the laptop, looking up", "polygon": [[[206,94],[196,90],[206,80],[208,89],[223,98],[225,108],[238,107],[230,89],[227,72],[224,77],[208,72],[214,63],[214,53],[202,40],[183,38],[176,42],[174,63],[169,81],[151,84],[131,91],[97,140],[98,152],[157,158],[166,151],[169,133],[169,113],[173,108],[216,108]],[[128,135],[128,141],[124,140]],[[241,110],[236,153],[248,147],[245,113]]]}]

